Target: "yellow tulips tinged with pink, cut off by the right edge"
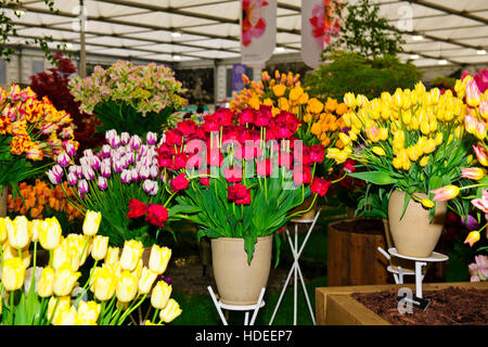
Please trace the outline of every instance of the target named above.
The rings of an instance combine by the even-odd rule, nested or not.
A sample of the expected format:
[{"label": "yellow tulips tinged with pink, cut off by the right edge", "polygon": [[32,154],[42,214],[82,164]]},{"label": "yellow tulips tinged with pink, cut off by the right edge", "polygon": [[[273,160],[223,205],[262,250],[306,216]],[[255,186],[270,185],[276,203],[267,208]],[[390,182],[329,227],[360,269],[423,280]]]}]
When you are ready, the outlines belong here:
[{"label": "yellow tulips tinged with pink, cut off by the right edge", "polygon": [[[474,76],[464,75],[455,81],[454,86],[458,98],[464,100],[465,136],[474,141],[468,153],[475,154],[477,159],[473,167],[463,168],[460,172],[461,178],[468,182],[467,184],[448,184],[433,192],[437,201],[453,203],[457,213],[466,221],[470,233],[464,243],[468,243],[470,246],[479,241],[481,231],[487,227],[486,219],[488,217],[487,80],[488,70],[485,69]],[[483,216],[485,216],[485,221]],[[480,226],[483,227],[479,228]],[[483,249],[488,249],[488,247],[480,247],[478,250]]]}]

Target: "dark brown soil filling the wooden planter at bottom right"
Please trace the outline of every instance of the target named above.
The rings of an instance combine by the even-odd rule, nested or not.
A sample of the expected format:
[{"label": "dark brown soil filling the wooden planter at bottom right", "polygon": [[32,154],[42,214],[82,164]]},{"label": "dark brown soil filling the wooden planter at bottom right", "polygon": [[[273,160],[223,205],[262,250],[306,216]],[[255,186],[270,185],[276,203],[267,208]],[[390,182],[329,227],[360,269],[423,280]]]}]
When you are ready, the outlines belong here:
[{"label": "dark brown soil filling the wooden planter at bottom right", "polygon": [[422,311],[401,314],[397,309],[397,291],[354,293],[352,297],[395,325],[487,325],[488,290],[448,287],[425,291],[423,297],[431,300]]}]

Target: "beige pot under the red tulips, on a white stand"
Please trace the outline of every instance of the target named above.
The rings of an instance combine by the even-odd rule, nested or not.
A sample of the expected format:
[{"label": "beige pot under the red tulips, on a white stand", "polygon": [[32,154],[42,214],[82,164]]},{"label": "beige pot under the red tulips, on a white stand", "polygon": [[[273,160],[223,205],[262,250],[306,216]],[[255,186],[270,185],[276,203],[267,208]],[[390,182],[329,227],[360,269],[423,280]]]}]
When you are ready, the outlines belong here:
[{"label": "beige pot under the red tulips, on a white stand", "polygon": [[220,301],[254,305],[267,286],[271,269],[272,235],[258,237],[251,265],[244,239],[211,239],[211,265]]}]

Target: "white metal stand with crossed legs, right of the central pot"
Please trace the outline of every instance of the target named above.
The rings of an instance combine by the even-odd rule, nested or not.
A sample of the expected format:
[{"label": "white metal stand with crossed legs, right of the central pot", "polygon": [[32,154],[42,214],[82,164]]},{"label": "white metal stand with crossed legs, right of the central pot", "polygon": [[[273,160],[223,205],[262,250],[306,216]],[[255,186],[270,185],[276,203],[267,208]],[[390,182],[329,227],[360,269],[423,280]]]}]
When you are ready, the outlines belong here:
[{"label": "white metal stand with crossed legs, right of the central pot", "polygon": [[[304,281],[304,277],[301,274],[301,270],[300,270],[300,266],[298,265],[298,259],[301,255],[301,252],[305,248],[305,245],[307,244],[308,237],[310,236],[311,231],[313,230],[313,227],[316,226],[317,220],[319,219],[319,215],[320,215],[320,209],[317,211],[316,217],[313,219],[306,219],[306,220],[299,220],[299,219],[292,219],[292,222],[295,223],[295,245],[293,245],[292,243],[292,237],[290,236],[290,232],[288,229],[286,229],[286,236],[288,239],[288,243],[290,243],[290,248],[292,249],[292,254],[293,254],[293,266],[290,269],[288,272],[288,277],[286,278],[285,284],[283,285],[283,290],[281,291],[280,294],[280,298],[278,299],[277,303],[277,307],[274,308],[274,312],[273,316],[271,317],[271,320],[269,322],[269,325],[271,325],[273,323],[274,317],[277,316],[278,309],[280,308],[281,305],[281,300],[283,299],[284,293],[286,292],[286,287],[288,285],[290,279],[292,277],[292,273],[294,275],[294,298],[293,298],[293,325],[296,325],[296,314],[297,314],[297,281],[298,281],[298,275],[300,278],[300,282],[301,282],[301,287],[304,290],[304,294],[305,294],[305,299],[307,300],[307,305],[308,305],[308,310],[310,311],[310,317],[311,320],[313,322],[313,325],[316,325],[316,318],[313,316],[313,310],[312,307],[310,305],[310,299],[308,298],[308,293],[307,293],[307,287],[305,286],[305,281]],[[298,224],[299,223],[306,223],[309,224],[311,223],[310,228],[308,229],[307,235],[305,236],[305,240],[298,250]]]}]

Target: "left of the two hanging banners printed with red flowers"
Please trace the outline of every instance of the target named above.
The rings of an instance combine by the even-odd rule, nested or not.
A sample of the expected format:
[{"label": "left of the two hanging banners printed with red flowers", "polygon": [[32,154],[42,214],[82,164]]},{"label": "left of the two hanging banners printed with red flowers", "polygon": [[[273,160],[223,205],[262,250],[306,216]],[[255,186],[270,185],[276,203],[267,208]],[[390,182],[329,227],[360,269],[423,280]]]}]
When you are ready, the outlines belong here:
[{"label": "left of the two hanging banners printed with red flowers", "polygon": [[262,67],[277,43],[277,0],[241,0],[241,61]]}]

